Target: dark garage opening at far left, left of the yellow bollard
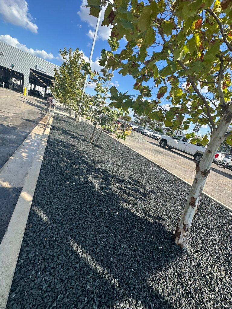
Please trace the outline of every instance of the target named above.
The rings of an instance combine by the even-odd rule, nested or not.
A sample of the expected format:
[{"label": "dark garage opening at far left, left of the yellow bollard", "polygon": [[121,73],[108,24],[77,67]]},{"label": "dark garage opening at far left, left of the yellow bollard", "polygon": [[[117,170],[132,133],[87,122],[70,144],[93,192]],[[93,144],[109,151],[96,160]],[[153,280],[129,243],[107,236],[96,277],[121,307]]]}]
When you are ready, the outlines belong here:
[{"label": "dark garage opening at far left, left of the yellow bollard", "polygon": [[0,87],[23,92],[24,74],[15,71],[13,67],[8,69],[0,66]]}]

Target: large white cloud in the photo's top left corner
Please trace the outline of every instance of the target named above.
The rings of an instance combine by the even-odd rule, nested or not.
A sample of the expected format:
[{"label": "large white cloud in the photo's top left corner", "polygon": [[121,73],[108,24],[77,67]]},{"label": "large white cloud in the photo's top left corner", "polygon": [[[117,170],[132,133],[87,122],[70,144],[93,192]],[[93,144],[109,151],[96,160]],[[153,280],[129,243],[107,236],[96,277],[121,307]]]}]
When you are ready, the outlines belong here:
[{"label": "large white cloud in the photo's top left corner", "polygon": [[32,22],[25,0],[0,0],[0,13],[6,22],[37,33],[38,26]]}]

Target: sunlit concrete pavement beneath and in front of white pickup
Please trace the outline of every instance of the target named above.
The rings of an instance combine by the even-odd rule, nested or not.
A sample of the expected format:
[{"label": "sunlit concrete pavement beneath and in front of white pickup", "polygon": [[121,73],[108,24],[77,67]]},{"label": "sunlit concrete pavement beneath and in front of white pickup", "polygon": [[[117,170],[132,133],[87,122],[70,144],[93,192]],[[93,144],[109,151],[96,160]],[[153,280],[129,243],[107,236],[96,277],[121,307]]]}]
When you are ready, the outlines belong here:
[{"label": "sunlit concrete pavement beneath and in front of white pickup", "polygon": [[[192,156],[177,150],[169,150],[167,147],[161,148],[157,140],[143,136],[146,142],[132,138],[126,138],[126,141],[121,142],[188,183],[193,183],[196,165]],[[232,208],[232,171],[219,168],[213,163],[204,192]]]}]

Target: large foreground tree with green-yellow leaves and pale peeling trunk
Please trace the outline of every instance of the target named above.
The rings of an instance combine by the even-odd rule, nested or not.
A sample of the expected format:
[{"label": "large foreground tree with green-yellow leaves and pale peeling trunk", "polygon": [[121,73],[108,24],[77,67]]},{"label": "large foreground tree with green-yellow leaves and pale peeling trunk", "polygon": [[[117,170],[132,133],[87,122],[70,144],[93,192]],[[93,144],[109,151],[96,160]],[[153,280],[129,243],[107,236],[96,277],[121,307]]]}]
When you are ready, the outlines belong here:
[{"label": "large foreground tree with green-yellow leaves and pale peeling trunk", "polygon": [[[88,2],[95,11],[99,8],[98,0]],[[188,129],[190,121],[207,124],[211,130],[210,142],[207,135],[201,140],[208,143],[207,149],[196,163],[195,179],[174,234],[176,244],[184,247],[214,155],[225,138],[231,143],[231,133],[226,132],[232,119],[232,2],[108,3],[102,24],[112,27],[111,50],[102,50],[100,64],[130,74],[139,91],[135,97],[111,87],[112,104],[145,113],[173,130],[181,123]],[[123,37],[126,46],[114,53]],[[164,96],[168,109],[162,104]]]}]

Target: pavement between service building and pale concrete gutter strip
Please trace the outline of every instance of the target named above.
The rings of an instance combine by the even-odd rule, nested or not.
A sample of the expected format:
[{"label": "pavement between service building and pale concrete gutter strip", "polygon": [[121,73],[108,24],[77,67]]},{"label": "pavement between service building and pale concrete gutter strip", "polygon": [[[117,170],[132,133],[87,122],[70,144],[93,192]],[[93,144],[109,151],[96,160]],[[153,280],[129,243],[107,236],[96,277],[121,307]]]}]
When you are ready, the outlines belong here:
[{"label": "pavement between service building and pale concrete gutter strip", "polygon": [[41,120],[46,101],[0,88],[0,168]]}]

